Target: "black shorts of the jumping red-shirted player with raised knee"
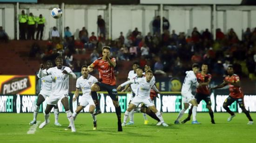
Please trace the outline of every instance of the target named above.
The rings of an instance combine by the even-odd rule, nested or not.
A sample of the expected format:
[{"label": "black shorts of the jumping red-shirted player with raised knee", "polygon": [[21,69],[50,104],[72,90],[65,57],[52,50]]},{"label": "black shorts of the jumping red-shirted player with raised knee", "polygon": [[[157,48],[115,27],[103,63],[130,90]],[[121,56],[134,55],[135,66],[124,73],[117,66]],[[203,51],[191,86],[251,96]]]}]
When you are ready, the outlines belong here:
[{"label": "black shorts of the jumping red-shirted player with raised knee", "polygon": [[100,86],[100,91],[108,91],[108,95],[112,100],[118,101],[118,95],[115,85],[108,85],[101,82],[96,82],[95,84]]}]

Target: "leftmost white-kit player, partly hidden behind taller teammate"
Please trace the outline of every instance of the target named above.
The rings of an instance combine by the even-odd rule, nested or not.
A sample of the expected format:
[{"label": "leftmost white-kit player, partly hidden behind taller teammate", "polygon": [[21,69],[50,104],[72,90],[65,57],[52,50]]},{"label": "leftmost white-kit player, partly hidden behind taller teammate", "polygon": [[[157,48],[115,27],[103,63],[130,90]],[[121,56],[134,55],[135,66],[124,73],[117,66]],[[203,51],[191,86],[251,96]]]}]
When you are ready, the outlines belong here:
[{"label": "leftmost white-kit player, partly hidden behind taller teammate", "polygon": [[[46,62],[46,69],[44,69],[43,71],[47,71],[51,67],[53,67],[53,63],[52,61],[48,60]],[[37,77],[38,78],[40,77],[39,74],[37,75]],[[41,78],[40,93],[38,94],[37,102],[34,106],[34,119],[29,123],[30,125],[36,124],[36,117],[37,117],[40,105],[46,100],[46,97],[49,97],[51,94],[52,94],[52,76],[49,75]],[[58,122],[59,109],[57,104],[54,105],[54,117],[55,117],[54,125],[61,126],[61,124]]]}]

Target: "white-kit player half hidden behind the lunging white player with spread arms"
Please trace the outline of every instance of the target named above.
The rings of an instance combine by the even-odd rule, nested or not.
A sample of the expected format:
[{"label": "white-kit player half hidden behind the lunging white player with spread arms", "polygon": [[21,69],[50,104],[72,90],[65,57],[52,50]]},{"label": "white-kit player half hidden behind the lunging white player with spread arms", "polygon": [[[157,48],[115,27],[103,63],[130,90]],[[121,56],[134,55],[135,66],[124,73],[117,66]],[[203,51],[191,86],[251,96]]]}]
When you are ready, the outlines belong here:
[{"label": "white-kit player half hidden behind the lunging white player with spread arms", "polygon": [[[136,69],[139,67],[139,63],[138,62],[134,62],[133,63],[133,70],[129,71],[128,73],[128,80],[134,79],[137,74],[136,74]],[[125,88],[121,91],[121,92],[125,92],[127,91],[128,87],[130,87],[131,91],[132,91],[132,97],[130,98],[129,104],[131,103],[131,101],[133,100],[133,98],[135,97],[135,92],[137,91],[137,85],[136,84],[127,84],[125,86]],[[144,114],[144,113],[143,113]],[[127,123],[127,125],[133,125],[134,124],[134,109],[130,111],[130,122]]]}]

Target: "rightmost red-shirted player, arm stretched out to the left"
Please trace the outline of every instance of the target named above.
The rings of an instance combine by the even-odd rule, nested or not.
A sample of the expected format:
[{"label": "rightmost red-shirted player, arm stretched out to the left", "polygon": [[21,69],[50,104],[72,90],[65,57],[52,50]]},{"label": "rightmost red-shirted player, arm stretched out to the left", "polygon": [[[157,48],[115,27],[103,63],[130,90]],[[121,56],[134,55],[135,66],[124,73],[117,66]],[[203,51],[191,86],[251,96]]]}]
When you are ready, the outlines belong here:
[{"label": "rightmost red-shirted player, arm stretched out to the left", "polygon": [[244,101],[243,101],[243,91],[240,85],[240,78],[238,75],[234,74],[234,69],[232,65],[229,65],[228,67],[228,76],[226,76],[223,80],[223,83],[211,88],[211,89],[218,89],[222,88],[226,85],[229,85],[229,97],[224,101],[223,108],[227,110],[227,112],[231,115],[228,118],[228,122],[232,120],[233,117],[235,117],[235,113],[232,112],[229,109],[229,105],[231,105],[233,102],[238,102],[239,107],[243,110],[247,118],[249,119],[249,122],[247,124],[253,124],[253,120],[249,114],[249,111],[245,109]]}]

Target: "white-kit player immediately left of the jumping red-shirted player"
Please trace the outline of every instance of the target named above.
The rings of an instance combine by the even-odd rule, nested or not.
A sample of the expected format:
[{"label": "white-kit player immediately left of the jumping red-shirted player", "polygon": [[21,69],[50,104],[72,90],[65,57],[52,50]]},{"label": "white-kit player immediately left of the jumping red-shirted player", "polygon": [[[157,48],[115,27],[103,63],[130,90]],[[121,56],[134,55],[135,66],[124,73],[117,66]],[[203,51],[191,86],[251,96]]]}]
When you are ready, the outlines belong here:
[{"label": "white-kit player immediately left of the jumping red-shirted player", "polygon": [[[79,95],[79,89],[82,90],[83,95],[79,98],[80,102],[72,116],[75,120],[75,118],[80,113],[80,111],[83,110],[87,105],[89,105],[89,112],[92,114],[93,121],[94,121],[93,130],[96,130],[97,129],[97,119],[96,119],[96,116],[93,115],[94,110],[95,110],[95,104],[94,104],[93,98],[91,96],[91,85],[98,82],[98,79],[88,73],[89,73],[88,66],[83,65],[81,67],[82,76],[80,78],[77,78],[77,80],[76,80],[76,90],[74,92],[73,102],[76,100],[76,98]],[[69,125],[67,128],[70,129],[71,125]]]}]

